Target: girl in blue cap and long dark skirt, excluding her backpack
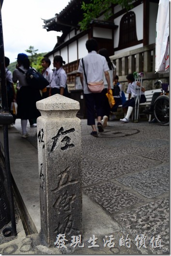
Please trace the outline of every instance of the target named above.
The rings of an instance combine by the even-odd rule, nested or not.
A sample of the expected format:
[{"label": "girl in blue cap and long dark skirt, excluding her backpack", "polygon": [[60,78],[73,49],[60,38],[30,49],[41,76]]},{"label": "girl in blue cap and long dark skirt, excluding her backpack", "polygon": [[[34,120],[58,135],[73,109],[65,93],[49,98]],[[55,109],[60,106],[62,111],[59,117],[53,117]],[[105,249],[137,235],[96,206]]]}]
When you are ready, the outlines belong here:
[{"label": "girl in blue cap and long dark skirt, excluding her backpack", "polygon": [[17,92],[16,102],[17,118],[21,119],[22,138],[27,138],[27,122],[37,119],[41,114],[36,108],[36,102],[42,99],[40,90],[30,86],[26,79],[26,73],[30,69],[30,62],[25,53],[17,56],[17,66],[13,72],[13,82],[19,81],[20,89]]}]

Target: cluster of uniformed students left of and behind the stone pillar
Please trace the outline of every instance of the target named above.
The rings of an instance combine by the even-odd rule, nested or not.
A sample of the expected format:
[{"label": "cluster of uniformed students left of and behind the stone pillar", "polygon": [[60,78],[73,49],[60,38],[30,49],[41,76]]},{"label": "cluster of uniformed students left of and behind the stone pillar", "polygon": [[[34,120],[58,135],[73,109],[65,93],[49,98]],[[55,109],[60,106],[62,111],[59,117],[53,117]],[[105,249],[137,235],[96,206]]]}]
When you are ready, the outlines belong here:
[{"label": "cluster of uniformed students left of and behind the stone pillar", "polygon": [[[8,60],[8,61],[7,61]],[[13,72],[7,70],[7,66],[9,65],[9,59],[5,57],[5,66],[6,66],[6,81],[9,81],[13,90],[10,99],[8,100],[9,109],[11,108],[11,103],[16,101],[17,103],[17,116],[14,117],[21,119],[21,128],[22,128],[22,138],[27,138],[27,123],[29,120],[30,127],[36,127],[36,120],[41,115],[39,110],[36,108],[36,102],[46,98],[48,96],[59,93],[61,95],[64,94],[64,90],[67,82],[67,75],[64,71],[62,65],[65,64],[62,57],[57,55],[54,57],[54,70],[50,69],[51,61],[48,58],[42,59],[43,66],[43,76],[49,82],[49,85],[43,89],[42,91],[30,87],[26,80],[26,72],[30,68],[30,61],[28,59],[27,54],[19,53],[17,56],[17,65]],[[23,72],[21,72],[22,70]],[[14,90],[14,84],[17,83],[17,93]],[[7,95],[9,92],[7,90]],[[9,98],[9,97],[8,97]]]}]

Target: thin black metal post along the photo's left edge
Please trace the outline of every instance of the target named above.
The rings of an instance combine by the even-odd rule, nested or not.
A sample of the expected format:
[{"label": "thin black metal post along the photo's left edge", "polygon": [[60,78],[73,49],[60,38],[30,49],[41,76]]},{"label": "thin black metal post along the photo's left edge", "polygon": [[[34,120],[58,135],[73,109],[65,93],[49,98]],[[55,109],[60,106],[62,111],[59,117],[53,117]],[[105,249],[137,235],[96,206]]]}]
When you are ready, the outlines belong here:
[{"label": "thin black metal post along the photo's left edge", "polygon": [[[0,84],[1,84],[1,99],[2,99],[3,113],[6,114],[7,116],[9,116],[7,89],[6,89],[2,18],[1,18],[2,2],[3,2],[3,0],[0,0]],[[11,120],[12,120],[11,121],[11,123],[12,123],[13,117]],[[3,123],[3,137],[4,137],[4,152],[5,152],[5,168],[6,168],[6,172],[7,172],[7,182],[8,182],[8,190],[9,190],[8,193],[9,193],[10,214],[11,214],[11,223],[12,223],[12,234],[14,236],[16,236],[17,232],[16,232],[16,223],[15,223],[12,175],[11,175],[11,169],[10,169],[9,144],[8,144],[8,122],[5,120]]]}]

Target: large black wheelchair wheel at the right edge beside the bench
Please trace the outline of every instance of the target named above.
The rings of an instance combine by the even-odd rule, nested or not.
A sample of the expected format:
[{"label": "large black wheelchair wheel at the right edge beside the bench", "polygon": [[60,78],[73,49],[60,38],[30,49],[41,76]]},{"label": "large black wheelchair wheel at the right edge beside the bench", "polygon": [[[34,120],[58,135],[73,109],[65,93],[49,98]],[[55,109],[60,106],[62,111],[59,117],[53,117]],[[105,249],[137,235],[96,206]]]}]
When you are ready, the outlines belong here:
[{"label": "large black wheelchair wheel at the right edge beside the bench", "polygon": [[161,125],[169,124],[169,97],[159,96],[154,105],[154,115],[157,122]]}]

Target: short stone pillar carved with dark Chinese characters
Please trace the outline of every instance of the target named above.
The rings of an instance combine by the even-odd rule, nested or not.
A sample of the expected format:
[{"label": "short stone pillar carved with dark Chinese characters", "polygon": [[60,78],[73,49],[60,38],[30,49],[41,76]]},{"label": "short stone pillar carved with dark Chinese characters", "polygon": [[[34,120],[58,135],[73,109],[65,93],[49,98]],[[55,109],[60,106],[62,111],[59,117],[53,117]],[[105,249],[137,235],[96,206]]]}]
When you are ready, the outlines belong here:
[{"label": "short stone pillar carved with dark Chinese characters", "polygon": [[48,247],[57,234],[82,234],[81,120],[79,102],[53,95],[36,103],[41,228]]}]

